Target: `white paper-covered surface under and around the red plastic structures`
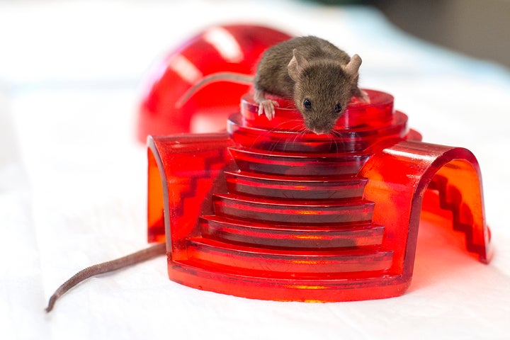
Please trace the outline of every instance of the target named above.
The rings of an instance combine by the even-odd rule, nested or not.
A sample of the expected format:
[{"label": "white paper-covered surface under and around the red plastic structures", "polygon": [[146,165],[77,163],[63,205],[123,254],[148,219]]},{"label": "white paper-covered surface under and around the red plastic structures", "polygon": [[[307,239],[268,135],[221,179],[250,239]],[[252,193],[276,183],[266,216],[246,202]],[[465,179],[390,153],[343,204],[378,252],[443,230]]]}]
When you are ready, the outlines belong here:
[{"label": "white paper-covered surface under and around the red plastic structures", "polygon": [[[422,222],[402,297],[248,300],[170,281],[164,257],[92,278],[45,314],[80,269],[146,246],[136,104],[150,65],[215,23],[327,38],[363,58],[361,86],[395,96],[426,142],[482,169],[494,260]],[[294,1],[0,3],[2,339],[509,339],[510,72],[428,45],[370,8]]]}]

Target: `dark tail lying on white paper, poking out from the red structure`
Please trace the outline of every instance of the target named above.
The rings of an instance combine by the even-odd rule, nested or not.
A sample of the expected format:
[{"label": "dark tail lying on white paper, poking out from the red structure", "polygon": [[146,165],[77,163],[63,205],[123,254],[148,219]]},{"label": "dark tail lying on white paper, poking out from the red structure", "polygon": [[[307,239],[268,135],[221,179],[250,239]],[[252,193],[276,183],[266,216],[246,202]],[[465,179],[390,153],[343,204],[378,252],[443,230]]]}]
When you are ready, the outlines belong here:
[{"label": "dark tail lying on white paper, poking out from the red structure", "polygon": [[69,278],[66,282],[62,283],[55,293],[50,297],[50,301],[46,307],[46,312],[51,312],[53,307],[55,306],[55,302],[57,302],[58,298],[64,295],[67,290],[73,288],[81,281],[86,280],[87,278],[91,278],[92,276],[96,276],[103,273],[109,273],[111,271],[117,271],[118,269],[122,269],[128,266],[132,266],[133,264],[137,264],[143,261],[147,261],[149,259],[153,259],[154,257],[166,254],[166,244],[159,243],[154,246],[149,246],[147,249],[143,249],[137,251],[135,253],[129,254],[128,256],[120,257],[119,259],[115,259],[113,261],[103,262],[95,264],[94,266],[90,266],[88,268],[79,271],[74,274],[72,278]]}]

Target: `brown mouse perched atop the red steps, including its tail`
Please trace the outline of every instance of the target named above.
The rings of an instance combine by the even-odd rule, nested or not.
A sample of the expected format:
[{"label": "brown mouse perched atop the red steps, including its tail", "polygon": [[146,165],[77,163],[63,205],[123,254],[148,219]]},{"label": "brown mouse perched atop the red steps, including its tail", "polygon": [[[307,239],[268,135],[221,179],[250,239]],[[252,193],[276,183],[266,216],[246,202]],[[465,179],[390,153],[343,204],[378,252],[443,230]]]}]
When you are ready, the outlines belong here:
[{"label": "brown mouse perched atop the red steps, including its tail", "polygon": [[254,76],[234,72],[210,74],[191,87],[176,102],[180,108],[203,86],[214,81],[253,84],[259,115],[275,116],[278,102],[268,95],[294,101],[305,127],[317,135],[334,129],[351,98],[368,103],[358,87],[361,57],[349,55],[331,42],[313,35],[290,38],[263,52]]}]

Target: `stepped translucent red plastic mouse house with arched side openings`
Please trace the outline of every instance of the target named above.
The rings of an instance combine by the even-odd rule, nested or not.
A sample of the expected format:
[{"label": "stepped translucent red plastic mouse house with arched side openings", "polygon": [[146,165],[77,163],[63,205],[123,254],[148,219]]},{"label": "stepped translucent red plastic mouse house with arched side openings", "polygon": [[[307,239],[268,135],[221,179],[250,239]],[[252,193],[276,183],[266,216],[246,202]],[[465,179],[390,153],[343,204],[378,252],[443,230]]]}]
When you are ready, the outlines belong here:
[{"label": "stepped translucent red plastic mouse house with arched side openings", "polygon": [[268,121],[246,94],[225,132],[149,137],[148,235],[167,244],[169,278],[264,300],[402,295],[422,210],[449,211],[487,263],[473,154],[421,142],[392,96],[366,91],[330,135],[307,132],[288,101]]}]

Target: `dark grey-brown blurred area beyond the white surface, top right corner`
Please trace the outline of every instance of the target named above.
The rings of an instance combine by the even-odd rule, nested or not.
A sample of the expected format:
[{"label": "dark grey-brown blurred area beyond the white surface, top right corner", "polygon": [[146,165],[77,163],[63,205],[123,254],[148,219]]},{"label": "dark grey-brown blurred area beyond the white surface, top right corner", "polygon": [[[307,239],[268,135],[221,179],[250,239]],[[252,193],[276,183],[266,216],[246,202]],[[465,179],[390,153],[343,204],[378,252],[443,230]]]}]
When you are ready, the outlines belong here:
[{"label": "dark grey-brown blurred area beyond the white surface, top right corner", "polygon": [[510,67],[509,0],[318,0],[380,9],[417,38]]}]

